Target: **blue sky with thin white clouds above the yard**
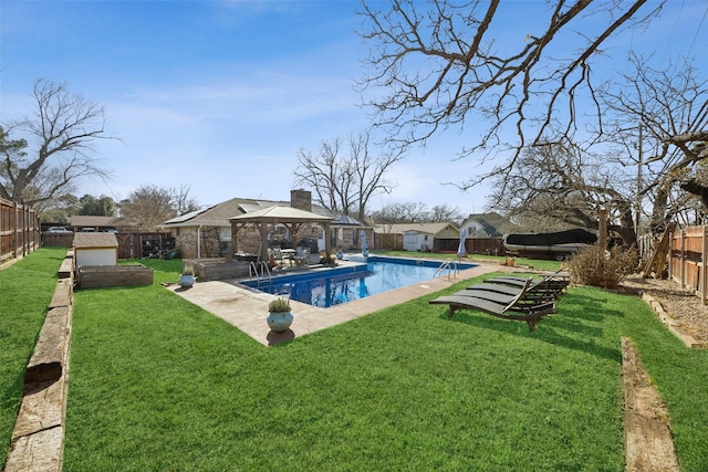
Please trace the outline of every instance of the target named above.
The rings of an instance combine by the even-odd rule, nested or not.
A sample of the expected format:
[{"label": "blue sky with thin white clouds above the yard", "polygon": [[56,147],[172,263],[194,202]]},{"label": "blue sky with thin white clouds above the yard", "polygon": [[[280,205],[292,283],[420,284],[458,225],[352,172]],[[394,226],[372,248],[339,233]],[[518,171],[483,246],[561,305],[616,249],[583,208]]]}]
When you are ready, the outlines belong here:
[{"label": "blue sky with thin white clouds above the yard", "polygon": [[[544,6],[507,4],[512,8],[500,34],[522,30],[519,22],[532,21]],[[322,140],[369,123],[353,88],[368,52],[355,34],[357,6],[3,0],[0,120],[31,113],[35,78],[65,82],[103,105],[108,132],[122,138],[96,146],[114,178],[82,181],[79,196],[119,200],[143,185],[187,185],[201,204],[233,197],[287,200],[300,148],[316,153]],[[706,0],[669,0],[650,31],[618,38],[617,51],[629,42],[657,61],[690,51],[702,66],[706,9]],[[610,57],[601,73],[621,70],[625,57]],[[461,193],[442,185],[479,171],[470,160],[454,160],[468,133],[473,129],[448,132],[412,149],[388,176],[394,193],[374,198],[369,209],[423,201],[482,211],[488,188]]]}]

